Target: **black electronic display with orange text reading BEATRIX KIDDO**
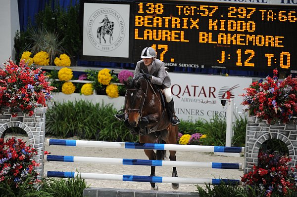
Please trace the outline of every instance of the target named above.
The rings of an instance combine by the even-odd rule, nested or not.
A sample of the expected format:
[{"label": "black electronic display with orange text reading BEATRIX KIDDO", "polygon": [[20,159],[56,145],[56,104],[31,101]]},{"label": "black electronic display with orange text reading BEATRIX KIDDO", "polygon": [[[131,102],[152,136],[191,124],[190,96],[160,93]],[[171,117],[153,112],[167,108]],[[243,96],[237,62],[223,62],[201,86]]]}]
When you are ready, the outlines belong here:
[{"label": "black electronic display with orange text reading BEATRIX KIDDO", "polygon": [[297,70],[297,9],[139,1],[134,62],[151,46],[167,67]]}]

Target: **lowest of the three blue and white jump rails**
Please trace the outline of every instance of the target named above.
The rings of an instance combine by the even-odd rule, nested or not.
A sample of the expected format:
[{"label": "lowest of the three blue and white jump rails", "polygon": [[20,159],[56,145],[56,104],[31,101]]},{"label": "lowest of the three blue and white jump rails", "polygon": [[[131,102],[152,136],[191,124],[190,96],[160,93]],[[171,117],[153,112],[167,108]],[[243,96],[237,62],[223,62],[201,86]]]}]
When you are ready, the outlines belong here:
[{"label": "lowest of the three blue and white jump rails", "polygon": [[59,172],[47,171],[46,177],[59,178],[76,178],[82,179],[99,179],[111,181],[135,181],[135,182],[152,182],[152,183],[183,183],[183,184],[212,184],[219,185],[222,182],[231,185],[241,185],[242,182],[236,179],[209,179],[209,178],[181,178],[181,177],[161,177],[161,176],[136,176],[136,175],[119,175],[119,174],[96,174],[83,172]]}]

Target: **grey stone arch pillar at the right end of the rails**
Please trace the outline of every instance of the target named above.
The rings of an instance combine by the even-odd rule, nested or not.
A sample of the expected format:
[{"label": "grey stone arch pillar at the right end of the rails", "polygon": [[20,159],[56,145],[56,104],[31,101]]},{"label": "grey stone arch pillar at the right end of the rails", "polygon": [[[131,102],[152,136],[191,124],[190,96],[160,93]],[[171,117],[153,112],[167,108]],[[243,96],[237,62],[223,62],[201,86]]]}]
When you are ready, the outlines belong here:
[{"label": "grey stone arch pillar at the right end of the rails", "polygon": [[261,145],[270,139],[284,142],[292,159],[289,167],[297,165],[297,125],[294,124],[268,124],[266,120],[259,121],[256,117],[248,117],[246,132],[245,169],[251,171],[253,165],[258,164],[258,154]]}]

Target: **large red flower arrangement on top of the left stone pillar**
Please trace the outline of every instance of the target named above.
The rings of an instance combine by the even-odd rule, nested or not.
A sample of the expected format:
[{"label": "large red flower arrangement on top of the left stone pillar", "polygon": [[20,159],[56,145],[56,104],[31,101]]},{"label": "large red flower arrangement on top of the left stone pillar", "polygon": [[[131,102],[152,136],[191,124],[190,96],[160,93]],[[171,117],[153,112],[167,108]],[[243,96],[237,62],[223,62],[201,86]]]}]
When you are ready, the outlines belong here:
[{"label": "large red flower arrangement on top of the left stone pillar", "polygon": [[9,107],[12,116],[17,112],[34,114],[34,108],[46,106],[45,100],[52,101],[50,86],[40,68],[30,68],[21,60],[19,65],[8,60],[0,69],[0,109]]}]

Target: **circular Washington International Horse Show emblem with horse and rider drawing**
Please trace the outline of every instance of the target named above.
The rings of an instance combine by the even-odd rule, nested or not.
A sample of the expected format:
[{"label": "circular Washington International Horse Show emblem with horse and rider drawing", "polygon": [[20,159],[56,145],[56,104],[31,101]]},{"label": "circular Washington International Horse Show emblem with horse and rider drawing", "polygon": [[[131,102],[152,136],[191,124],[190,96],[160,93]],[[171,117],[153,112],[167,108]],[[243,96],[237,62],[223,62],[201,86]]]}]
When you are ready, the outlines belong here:
[{"label": "circular Washington International Horse Show emblem with horse and rider drawing", "polygon": [[101,51],[112,51],[124,40],[126,27],[122,16],[114,9],[96,10],[87,23],[87,34],[93,46]]}]

